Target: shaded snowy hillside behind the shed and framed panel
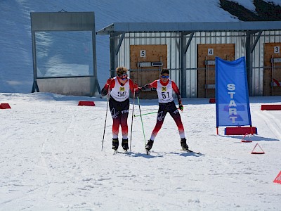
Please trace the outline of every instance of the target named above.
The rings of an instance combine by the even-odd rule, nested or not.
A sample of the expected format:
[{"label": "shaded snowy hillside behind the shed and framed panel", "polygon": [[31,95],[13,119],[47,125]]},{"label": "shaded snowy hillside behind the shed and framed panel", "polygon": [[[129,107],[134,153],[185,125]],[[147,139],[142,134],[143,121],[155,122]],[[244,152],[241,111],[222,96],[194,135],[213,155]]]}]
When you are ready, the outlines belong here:
[{"label": "shaded snowy hillside behind the shed and framed panel", "polygon": [[[116,22],[237,21],[218,0],[0,1],[0,92],[30,93],[33,82],[30,12],[94,11],[96,30]],[[98,80],[109,76],[109,37],[96,36]]]}]

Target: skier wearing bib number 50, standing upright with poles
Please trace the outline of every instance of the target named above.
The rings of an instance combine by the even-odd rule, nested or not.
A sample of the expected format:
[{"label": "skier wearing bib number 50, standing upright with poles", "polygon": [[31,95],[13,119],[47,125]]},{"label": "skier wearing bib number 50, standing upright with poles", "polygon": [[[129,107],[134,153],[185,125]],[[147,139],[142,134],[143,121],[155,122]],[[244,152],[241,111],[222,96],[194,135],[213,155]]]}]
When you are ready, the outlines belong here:
[{"label": "skier wearing bib number 50, standing upright with poles", "polygon": [[127,75],[127,69],[118,67],[116,69],[116,77],[107,79],[105,87],[101,91],[101,95],[105,96],[110,90],[110,113],[112,116],[112,149],[117,151],[119,146],[118,134],[119,127],[122,129],[122,148],[124,151],[129,149],[128,146],[128,115],[129,115],[129,90],[135,92],[135,97],[139,95],[138,84],[134,84]]}]

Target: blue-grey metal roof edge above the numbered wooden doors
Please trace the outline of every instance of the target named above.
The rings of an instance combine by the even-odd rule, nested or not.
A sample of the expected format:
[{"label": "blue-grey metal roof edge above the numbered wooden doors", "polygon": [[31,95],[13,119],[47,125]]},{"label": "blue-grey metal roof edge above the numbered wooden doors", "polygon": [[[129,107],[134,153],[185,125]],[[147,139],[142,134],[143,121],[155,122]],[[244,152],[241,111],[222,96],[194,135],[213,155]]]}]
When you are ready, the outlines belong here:
[{"label": "blue-grey metal roof edge above the numbered wooden doors", "polygon": [[195,23],[112,23],[96,34],[127,32],[222,32],[281,30],[281,21],[195,22]]}]

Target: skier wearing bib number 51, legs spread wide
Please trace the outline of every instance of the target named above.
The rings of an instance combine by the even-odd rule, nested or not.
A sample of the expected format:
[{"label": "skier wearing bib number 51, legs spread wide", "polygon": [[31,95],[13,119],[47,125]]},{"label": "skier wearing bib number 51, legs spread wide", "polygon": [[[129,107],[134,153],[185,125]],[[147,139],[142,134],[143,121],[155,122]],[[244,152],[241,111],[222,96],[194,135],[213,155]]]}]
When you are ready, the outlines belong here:
[{"label": "skier wearing bib number 51, legs spread wide", "polygon": [[169,113],[171,117],[173,117],[176,125],[178,126],[178,132],[181,137],[181,148],[183,148],[184,151],[188,151],[188,145],[186,144],[185,132],[183,129],[183,122],[181,122],[181,115],[178,112],[178,108],[176,108],[174,98],[172,96],[172,93],[174,91],[176,93],[176,96],[178,97],[178,107],[181,111],[183,111],[181,94],[178,87],[176,86],[176,83],[169,79],[169,70],[163,69],[160,72],[160,79],[157,79],[150,84],[146,84],[145,86],[140,87],[141,90],[145,90],[148,88],[156,88],[159,101],[159,109],[157,113],[157,122],[155,128],[152,131],[150,140],[148,140],[148,143],[145,146],[146,151],[148,152],[152,148],[155,137],[159,132],[159,129],[161,129],[162,127],[166,113]]}]

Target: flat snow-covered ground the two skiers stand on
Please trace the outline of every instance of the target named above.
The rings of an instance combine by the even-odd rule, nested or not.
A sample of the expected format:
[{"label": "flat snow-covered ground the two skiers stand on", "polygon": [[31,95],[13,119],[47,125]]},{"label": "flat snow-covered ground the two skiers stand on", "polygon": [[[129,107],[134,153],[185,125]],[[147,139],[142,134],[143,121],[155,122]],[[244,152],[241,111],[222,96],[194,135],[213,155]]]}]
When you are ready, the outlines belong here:
[{"label": "flat snow-covered ground the two skiers stand on", "polygon": [[[110,115],[101,151],[106,98],[4,93],[0,99],[11,106],[0,110],[0,210],[280,210],[281,185],[273,180],[281,171],[281,113],[260,110],[262,103],[280,104],[280,96],[250,98],[258,128],[252,143],[225,136],[223,127],[216,135],[215,104],[183,98],[188,145],[202,155],[180,150],[169,115],[150,155],[140,117],[133,118],[131,153],[113,155]],[[157,110],[156,100],[140,103],[142,114]],[[145,139],[155,122],[156,114],[143,115]],[[256,143],[265,154],[251,154]]]}]

